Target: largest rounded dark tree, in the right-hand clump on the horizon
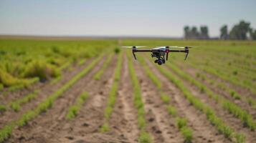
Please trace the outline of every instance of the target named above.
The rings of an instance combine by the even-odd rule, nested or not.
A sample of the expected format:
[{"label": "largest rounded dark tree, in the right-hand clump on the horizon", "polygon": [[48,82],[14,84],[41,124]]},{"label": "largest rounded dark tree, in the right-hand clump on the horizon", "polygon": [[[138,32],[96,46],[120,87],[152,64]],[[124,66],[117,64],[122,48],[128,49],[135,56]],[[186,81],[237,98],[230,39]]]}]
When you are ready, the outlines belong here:
[{"label": "largest rounded dark tree, in the right-hand clump on the horizon", "polygon": [[229,33],[230,39],[245,40],[247,39],[247,34],[250,32],[250,23],[245,21],[240,21],[239,24],[234,25]]}]

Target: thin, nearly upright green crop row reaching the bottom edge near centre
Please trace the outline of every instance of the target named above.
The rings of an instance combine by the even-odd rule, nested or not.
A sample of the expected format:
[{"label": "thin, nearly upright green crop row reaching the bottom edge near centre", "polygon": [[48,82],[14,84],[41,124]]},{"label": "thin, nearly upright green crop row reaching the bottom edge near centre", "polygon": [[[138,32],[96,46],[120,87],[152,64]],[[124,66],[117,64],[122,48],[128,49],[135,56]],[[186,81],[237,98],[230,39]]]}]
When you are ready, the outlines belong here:
[{"label": "thin, nearly upright green crop row reaching the bottom edge near centre", "polygon": [[128,69],[130,71],[131,80],[133,84],[134,104],[136,109],[138,110],[138,127],[140,129],[138,141],[143,143],[152,142],[151,135],[148,132],[146,132],[146,119],[144,112],[144,104],[141,97],[141,87],[136,76],[136,71],[133,68],[133,59],[131,59],[131,55],[129,54]]}]

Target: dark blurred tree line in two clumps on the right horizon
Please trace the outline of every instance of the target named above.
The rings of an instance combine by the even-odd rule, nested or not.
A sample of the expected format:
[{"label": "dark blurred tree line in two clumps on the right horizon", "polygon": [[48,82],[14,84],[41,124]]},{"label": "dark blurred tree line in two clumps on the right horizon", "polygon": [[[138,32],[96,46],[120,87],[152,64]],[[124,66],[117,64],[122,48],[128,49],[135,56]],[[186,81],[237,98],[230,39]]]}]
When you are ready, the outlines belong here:
[{"label": "dark blurred tree line in two clumps on the right horizon", "polygon": [[[219,39],[234,39],[234,40],[256,40],[256,29],[252,29],[250,22],[240,21],[235,24],[229,31],[228,26],[224,25],[220,29]],[[197,30],[196,26],[184,26],[185,39],[210,39],[207,26],[200,26]]]}]

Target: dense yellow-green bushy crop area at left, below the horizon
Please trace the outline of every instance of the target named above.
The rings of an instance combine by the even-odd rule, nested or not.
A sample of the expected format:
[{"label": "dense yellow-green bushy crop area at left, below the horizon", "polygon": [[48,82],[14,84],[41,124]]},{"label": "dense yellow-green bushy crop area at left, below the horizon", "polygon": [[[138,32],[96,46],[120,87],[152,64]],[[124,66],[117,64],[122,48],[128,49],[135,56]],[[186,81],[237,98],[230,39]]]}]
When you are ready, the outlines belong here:
[{"label": "dense yellow-green bushy crop area at left, below the horizon", "polygon": [[82,64],[85,59],[98,56],[105,46],[115,45],[113,40],[0,41],[0,83],[4,89],[11,91],[29,87],[34,82],[55,79],[60,76],[60,71],[71,63]]}]

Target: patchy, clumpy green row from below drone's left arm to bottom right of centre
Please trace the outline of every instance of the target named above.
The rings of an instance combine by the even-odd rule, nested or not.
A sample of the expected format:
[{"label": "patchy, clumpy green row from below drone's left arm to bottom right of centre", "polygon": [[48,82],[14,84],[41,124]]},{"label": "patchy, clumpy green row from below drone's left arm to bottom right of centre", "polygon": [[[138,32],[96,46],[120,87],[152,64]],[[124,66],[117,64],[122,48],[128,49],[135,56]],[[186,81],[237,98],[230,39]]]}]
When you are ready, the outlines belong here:
[{"label": "patchy, clumpy green row from below drone's left arm to bottom right of centre", "polygon": [[184,142],[186,142],[186,143],[191,142],[191,140],[193,138],[193,132],[192,132],[192,129],[187,125],[186,118],[178,117],[177,112],[176,112],[176,108],[171,105],[171,98],[167,94],[162,92],[161,82],[159,81],[158,77],[156,77],[156,74],[154,74],[151,71],[151,69],[148,68],[144,59],[139,57],[138,61],[141,62],[142,66],[143,66],[143,69],[144,69],[144,71],[146,71],[146,74],[148,75],[149,79],[151,79],[153,84],[156,85],[156,87],[158,88],[158,92],[161,93],[161,100],[164,104],[167,105],[167,108],[166,108],[167,111],[169,112],[169,114],[171,116],[176,118],[176,127],[178,127],[179,131],[183,135]]}]

